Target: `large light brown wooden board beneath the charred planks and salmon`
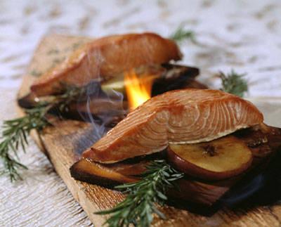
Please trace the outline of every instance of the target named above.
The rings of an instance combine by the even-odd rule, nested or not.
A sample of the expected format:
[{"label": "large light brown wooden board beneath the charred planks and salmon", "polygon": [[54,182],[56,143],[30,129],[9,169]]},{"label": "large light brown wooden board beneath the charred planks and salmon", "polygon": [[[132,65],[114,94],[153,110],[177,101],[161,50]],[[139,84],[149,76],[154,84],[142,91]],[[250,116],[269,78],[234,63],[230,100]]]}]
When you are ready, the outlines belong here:
[{"label": "large light brown wooden board beneath the charred planks and salmon", "polygon": [[[29,92],[30,84],[36,77],[63,60],[67,53],[85,41],[89,39],[62,35],[44,37],[23,79],[19,97]],[[19,112],[20,115],[23,114],[20,109]],[[101,226],[106,216],[99,216],[94,212],[113,207],[124,196],[115,190],[76,181],[72,179],[69,171],[71,165],[78,160],[79,153],[91,145],[91,130],[91,124],[65,120],[55,122],[55,127],[47,127],[40,135],[33,131],[32,137],[44,150],[89,219],[95,226]],[[163,207],[162,211],[167,220],[156,219],[155,226],[281,226],[281,207],[278,205],[236,211],[221,209],[213,216],[193,214],[174,207]]]}]

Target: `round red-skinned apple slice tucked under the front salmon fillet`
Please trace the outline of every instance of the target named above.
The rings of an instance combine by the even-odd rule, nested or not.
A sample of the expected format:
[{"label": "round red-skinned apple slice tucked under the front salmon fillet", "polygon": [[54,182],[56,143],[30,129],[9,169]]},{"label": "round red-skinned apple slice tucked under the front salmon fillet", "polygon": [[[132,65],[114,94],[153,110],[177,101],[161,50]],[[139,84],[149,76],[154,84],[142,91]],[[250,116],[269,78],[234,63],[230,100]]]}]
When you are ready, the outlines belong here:
[{"label": "round red-skinned apple slice tucked under the front salmon fillet", "polygon": [[251,165],[253,155],[243,141],[225,136],[206,143],[170,144],[168,160],[185,174],[221,180],[245,171]]}]

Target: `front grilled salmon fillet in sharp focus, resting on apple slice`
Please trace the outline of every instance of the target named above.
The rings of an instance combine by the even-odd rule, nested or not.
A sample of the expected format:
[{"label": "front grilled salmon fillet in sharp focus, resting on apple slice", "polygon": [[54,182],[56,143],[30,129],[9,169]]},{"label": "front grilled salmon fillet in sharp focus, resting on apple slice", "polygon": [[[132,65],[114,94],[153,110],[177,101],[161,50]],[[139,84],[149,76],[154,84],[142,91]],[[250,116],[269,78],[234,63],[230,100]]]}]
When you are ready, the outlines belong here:
[{"label": "front grilled salmon fillet in sharp focus, resting on apple slice", "polygon": [[112,163],[159,152],[168,143],[200,143],[263,122],[247,100],[218,90],[169,91],[133,110],[83,157]]}]

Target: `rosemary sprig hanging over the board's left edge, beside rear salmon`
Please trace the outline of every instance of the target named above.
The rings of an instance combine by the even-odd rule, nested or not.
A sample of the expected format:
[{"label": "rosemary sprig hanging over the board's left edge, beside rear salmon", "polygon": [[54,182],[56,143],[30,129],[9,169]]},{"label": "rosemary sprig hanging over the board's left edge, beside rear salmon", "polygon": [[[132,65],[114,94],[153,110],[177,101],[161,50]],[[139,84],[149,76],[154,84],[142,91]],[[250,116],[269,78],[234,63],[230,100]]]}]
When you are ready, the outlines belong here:
[{"label": "rosemary sprig hanging over the board's left edge, beside rear salmon", "polygon": [[68,105],[77,100],[84,91],[85,89],[76,86],[66,86],[64,93],[53,96],[48,101],[39,101],[34,108],[25,110],[25,116],[4,121],[0,137],[0,160],[4,168],[0,170],[0,175],[8,175],[11,181],[22,179],[20,170],[27,167],[20,163],[18,148],[25,152],[30,131],[32,129],[40,131],[50,124],[46,118],[49,110],[58,108],[61,112],[67,111]]}]

